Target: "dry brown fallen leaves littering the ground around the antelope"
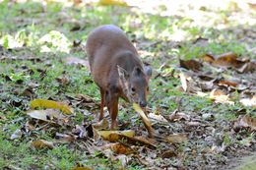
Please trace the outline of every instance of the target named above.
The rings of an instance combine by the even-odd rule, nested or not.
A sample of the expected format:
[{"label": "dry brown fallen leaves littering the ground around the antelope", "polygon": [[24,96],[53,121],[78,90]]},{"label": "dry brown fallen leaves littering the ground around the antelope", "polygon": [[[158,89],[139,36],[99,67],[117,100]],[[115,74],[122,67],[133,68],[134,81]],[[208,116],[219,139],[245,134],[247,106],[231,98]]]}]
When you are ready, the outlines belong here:
[{"label": "dry brown fallen leaves littering the ground around the antelope", "polygon": [[[81,28],[83,27],[80,25],[74,25],[71,30]],[[205,45],[207,43],[206,41],[208,41],[208,39],[198,38],[195,43]],[[152,42],[155,47],[157,43],[160,42]],[[208,58],[203,57],[191,61],[179,61],[180,67],[189,70],[189,72],[182,70],[182,73],[178,74],[178,78],[180,78],[180,80],[182,79],[181,86],[183,91],[185,91],[188,96],[201,93],[202,96],[212,97],[212,100],[216,101],[216,103],[213,103],[215,106],[237,102],[235,98],[237,96],[233,95],[237,95],[236,92],[238,92],[238,95],[242,96],[240,99],[242,104],[247,104],[247,107],[254,107],[256,89],[254,78],[255,61],[247,60],[246,58],[239,59],[237,55],[232,52],[219,56],[211,54],[206,55],[208,55]],[[28,60],[36,60],[34,57],[25,57],[25,59],[26,58]],[[16,56],[13,58],[1,58],[1,60],[10,59],[20,60],[24,58]],[[69,58],[66,62],[67,64],[88,68],[87,61],[77,58]],[[168,77],[175,76],[174,72],[176,72],[176,70],[164,73],[164,75],[160,75],[160,78],[162,76],[162,78],[168,79]],[[224,75],[226,72],[227,76]],[[233,80],[233,78],[236,79]],[[12,81],[12,79],[10,80]],[[57,81],[60,85],[64,86],[70,83],[69,78],[65,77],[60,77]],[[32,90],[30,88],[25,89],[24,95],[32,96]],[[92,108],[98,108],[98,103],[90,96],[78,94],[78,96],[75,97],[66,97],[70,100],[72,106],[75,106],[75,109],[80,110],[81,108],[78,107],[81,105],[83,105],[83,108],[90,109],[90,115],[94,115],[94,113],[91,113]],[[137,137],[135,137],[138,139],[135,139],[134,136],[127,137],[122,135],[125,131],[120,131],[110,132],[110,135],[108,134],[108,136],[111,136],[112,133],[112,135],[114,134],[113,137],[117,137],[115,140],[110,140],[112,142],[108,142],[108,140],[104,140],[103,138],[96,138],[95,140],[96,132],[94,132],[94,127],[96,127],[96,120],[91,121],[85,119],[82,125],[77,125],[73,122],[72,114],[70,117],[68,116],[71,121],[69,121],[69,119],[67,119],[67,121],[67,115],[62,115],[59,111],[57,111],[58,114],[49,114],[51,111],[48,111],[48,109],[30,111],[29,116],[31,119],[26,123],[26,131],[51,132],[52,129],[54,129],[53,137],[56,139],[56,142],[80,142],[81,144],[79,144],[78,147],[81,149],[86,151],[90,150],[89,152],[92,154],[94,154],[95,151],[99,151],[106,156],[109,161],[121,160],[123,167],[129,163],[135,162],[149,169],[185,169],[185,166],[188,166],[189,169],[207,169],[209,167],[215,169],[218,168],[218,166],[222,167],[226,162],[225,159],[228,158],[229,152],[237,153],[241,149],[240,146],[236,145],[230,139],[236,140],[237,136],[241,136],[235,141],[240,142],[241,139],[239,138],[248,137],[244,134],[244,131],[247,134],[255,132],[255,118],[252,116],[241,115],[237,120],[224,121],[215,119],[218,115],[211,113],[211,111],[207,111],[207,113],[204,113],[204,111],[202,111],[202,113],[194,113],[193,111],[183,110],[182,107],[187,106],[184,101],[181,101],[179,105],[181,105],[181,109],[173,111],[172,113],[166,113],[164,110],[164,112],[161,112],[162,115],[155,113],[156,111],[152,111],[148,115],[151,122],[153,122],[151,126],[155,129],[156,133],[161,136],[160,139],[155,140],[143,137],[143,132],[145,131],[144,127],[133,124],[132,126],[134,127],[132,127],[131,132],[136,132],[135,135]],[[49,108],[48,104],[46,104],[46,106],[44,104],[37,104],[36,107]],[[66,110],[66,108],[67,110],[70,109],[63,105],[54,108],[62,111]],[[252,111],[255,110],[252,109]],[[70,111],[67,112],[71,113]],[[245,111],[245,113],[248,113],[248,111]],[[73,112],[73,114],[76,114],[76,112]],[[37,121],[34,121],[34,119],[37,119]],[[1,119],[1,121],[6,120]],[[55,127],[52,123],[61,124],[62,130],[59,130],[59,127]],[[96,127],[96,129],[98,128],[98,130],[96,130],[97,132],[106,132],[108,129],[105,122],[103,122],[101,126],[98,126],[99,128]],[[235,133],[238,132],[238,134],[235,134],[233,131]],[[17,130],[13,137],[14,140],[19,140],[24,136],[29,136],[29,134],[25,134],[24,129],[21,129]],[[39,140],[35,141],[34,145],[38,148],[52,148],[56,142]],[[248,139],[248,143],[255,145],[255,139]],[[216,153],[221,154],[221,156],[219,158],[215,157],[214,155]],[[190,162],[187,164],[188,161]],[[74,169],[91,168],[78,165]]]}]

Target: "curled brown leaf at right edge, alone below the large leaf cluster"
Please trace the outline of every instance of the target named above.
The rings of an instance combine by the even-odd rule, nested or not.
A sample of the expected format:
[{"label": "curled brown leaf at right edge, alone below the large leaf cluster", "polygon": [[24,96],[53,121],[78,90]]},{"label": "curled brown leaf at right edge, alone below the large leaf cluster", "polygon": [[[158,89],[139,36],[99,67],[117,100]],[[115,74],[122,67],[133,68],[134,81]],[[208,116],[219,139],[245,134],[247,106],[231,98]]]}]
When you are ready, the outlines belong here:
[{"label": "curled brown leaf at right edge, alone below the large leaf cluster", "polygon": [[256,119],[253,117],[250,117],[249,115],[240,115],[237,119],[237,121],[234,123],[233,129],[234,131],[238,132],[241,129],[247,129],[249,128],[250,131],[255,132],[256,131]]}]

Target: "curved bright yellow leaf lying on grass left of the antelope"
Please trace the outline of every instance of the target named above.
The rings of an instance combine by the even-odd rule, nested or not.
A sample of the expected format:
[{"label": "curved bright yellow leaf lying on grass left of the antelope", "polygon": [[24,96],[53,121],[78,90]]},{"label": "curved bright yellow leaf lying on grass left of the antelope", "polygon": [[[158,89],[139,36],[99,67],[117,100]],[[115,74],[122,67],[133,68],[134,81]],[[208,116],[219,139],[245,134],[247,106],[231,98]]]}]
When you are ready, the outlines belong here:
[{"label": "curved bright yellow leaf lying on grass left of the antelope", "polygon": [[53,100],[40,99],[40,98],[32,100],[31,107],[32,109],[36,107],[59,109],[66,114],[71,114],[73,112],[72,109],[67,104],[53,101]]}]

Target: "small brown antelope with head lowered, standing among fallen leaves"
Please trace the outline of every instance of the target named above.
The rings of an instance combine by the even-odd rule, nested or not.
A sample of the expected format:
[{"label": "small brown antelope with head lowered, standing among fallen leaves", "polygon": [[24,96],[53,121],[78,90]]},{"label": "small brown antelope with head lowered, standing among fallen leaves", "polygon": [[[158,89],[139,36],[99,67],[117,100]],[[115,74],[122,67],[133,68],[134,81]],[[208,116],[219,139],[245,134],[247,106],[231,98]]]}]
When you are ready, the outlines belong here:
[{"label": "small brown antelope with head lowered, standing among fallen leaves", "polygon": [[143,66],[123,30],[112,25],[94,29],[88,37],[86,50],[93,79],[100,89],[99,121],[104,116],[103,107],[107,106],[113,130],[117,126],[119,97],[146,107],[152,69]]}]

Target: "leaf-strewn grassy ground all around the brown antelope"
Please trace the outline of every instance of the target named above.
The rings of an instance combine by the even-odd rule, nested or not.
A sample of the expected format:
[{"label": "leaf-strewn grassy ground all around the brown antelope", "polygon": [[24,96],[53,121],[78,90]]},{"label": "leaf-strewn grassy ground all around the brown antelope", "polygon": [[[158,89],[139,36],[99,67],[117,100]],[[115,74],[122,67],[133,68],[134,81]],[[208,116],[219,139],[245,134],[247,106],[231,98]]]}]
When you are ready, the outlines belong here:
[{"label": "leaf-strewn grassy ground all around the brown antelope", "polygon": [[[0,1],[0,169],[256,167],[255,4],[76,2]],[[125,135],[102,138],[110,118],[97,124],[84,46],[105,24],[154,69],[147,114],[160,138],[122,100]]]}]

